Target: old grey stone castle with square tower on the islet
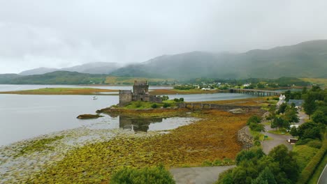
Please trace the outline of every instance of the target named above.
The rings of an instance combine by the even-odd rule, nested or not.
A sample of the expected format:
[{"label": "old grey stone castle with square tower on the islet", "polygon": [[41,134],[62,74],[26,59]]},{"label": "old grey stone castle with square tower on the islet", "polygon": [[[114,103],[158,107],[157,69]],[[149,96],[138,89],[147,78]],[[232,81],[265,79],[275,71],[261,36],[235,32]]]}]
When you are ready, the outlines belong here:
[{"label": "old grey stone castle with square tower on the islet", "polygon": [[131,90],[119,90],[119,105],[126,105],[131,101],[162,102],[162,98],[150,95],[147,81],[135,81],[133,92]]}]

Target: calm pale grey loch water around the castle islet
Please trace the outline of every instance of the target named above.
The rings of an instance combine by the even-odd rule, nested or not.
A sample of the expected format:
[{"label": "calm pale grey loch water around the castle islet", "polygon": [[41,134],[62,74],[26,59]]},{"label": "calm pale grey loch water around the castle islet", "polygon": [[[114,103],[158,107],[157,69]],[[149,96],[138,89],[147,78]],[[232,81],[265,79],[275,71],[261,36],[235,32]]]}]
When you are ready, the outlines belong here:
[{"label": "calm pale grey loch water around the castle islet", "polygon": [[[0,85],[2,89],[8,89],[8,87],[3,86],[6,85]],[[14,86],[17,90],[27,89],[25,85]],[[10,88],[13,89],[13,85],[10,85]],[[36,89],[38,88],[39,86],[36,87]],[[119,89],[120,86],[117,88]],[[249,97],[252,96],[239,93],[170,95],[170,99],[184,98],[188,102]],[[171,129],[183,125],[183,123],[178,123],[184,121],[183,119],[173,118],[154,120],[153,122],[145,121],[147,123],[141,124],[136,119],[129,119],[130,123],[127,124],[124,121],[124,124],[124,122],[119,121],[119,117],[110,116],[94,120],[76,118],[80,114],[94,114],[97,109],[116,105],[118,101],[117,95],[101,95],[98,96],[98,100],[92,100],[92,95],[0,95],[0,146],[81,126],[147,131]]]}]

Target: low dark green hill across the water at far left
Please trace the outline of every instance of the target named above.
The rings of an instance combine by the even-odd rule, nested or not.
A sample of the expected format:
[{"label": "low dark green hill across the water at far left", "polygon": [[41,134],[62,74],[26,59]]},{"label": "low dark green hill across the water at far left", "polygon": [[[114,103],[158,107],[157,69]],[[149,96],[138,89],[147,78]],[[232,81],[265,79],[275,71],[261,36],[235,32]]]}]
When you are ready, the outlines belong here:
[{"label": "low dark green hill across the water at far left", "polygon": [[[4,75],[3,75],[4,76]],[[55,71],[43,75],[15,75],[0,84],[104,84],[108,75]]]}]

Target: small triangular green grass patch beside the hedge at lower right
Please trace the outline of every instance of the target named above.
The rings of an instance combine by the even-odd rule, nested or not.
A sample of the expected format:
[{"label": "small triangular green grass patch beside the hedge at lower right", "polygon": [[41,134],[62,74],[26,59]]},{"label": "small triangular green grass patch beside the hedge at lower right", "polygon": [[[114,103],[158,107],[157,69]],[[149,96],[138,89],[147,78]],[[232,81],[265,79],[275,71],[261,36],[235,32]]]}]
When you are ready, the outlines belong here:
[{"label": "small triangular green grass patch beside the hedge at lower right", "polygon": [[293,151],[297,153],[296,159],[298,160],[300,170],[302,171],[319,149],[307,145],[298,145],[293,147]]}]

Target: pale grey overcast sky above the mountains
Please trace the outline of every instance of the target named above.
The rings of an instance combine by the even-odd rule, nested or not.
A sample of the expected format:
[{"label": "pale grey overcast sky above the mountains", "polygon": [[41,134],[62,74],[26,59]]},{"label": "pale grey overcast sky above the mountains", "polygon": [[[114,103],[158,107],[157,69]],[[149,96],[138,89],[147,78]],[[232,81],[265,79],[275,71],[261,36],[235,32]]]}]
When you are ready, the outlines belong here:
[{"label": "pale grey overcast sky above the mountains", "polygon": [[327,39],[327,1],[0,0],[0,73]]}]

